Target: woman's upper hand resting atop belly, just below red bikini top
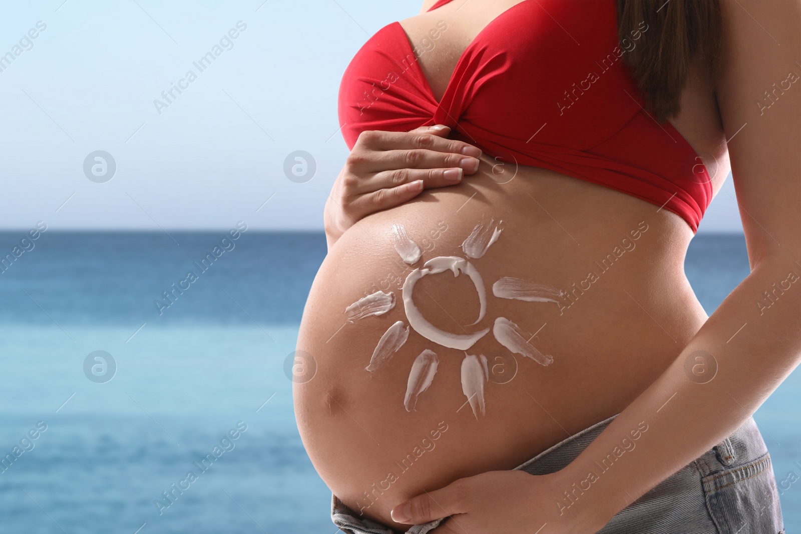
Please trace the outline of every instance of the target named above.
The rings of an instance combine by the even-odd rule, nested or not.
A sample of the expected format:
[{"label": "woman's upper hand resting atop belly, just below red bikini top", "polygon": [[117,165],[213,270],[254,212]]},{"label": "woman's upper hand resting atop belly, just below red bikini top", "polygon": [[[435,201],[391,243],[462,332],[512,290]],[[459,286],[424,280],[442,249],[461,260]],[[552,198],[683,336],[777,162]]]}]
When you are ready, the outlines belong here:
[{"label": "woman's upper hand resting atop belly, just below red bikini top", "polygon": [[361,218],[417,197],[425,188],[461,182],[478,170],[481,149],[447,139],[448,126],[410,132],[365,131],[325,203],[328,246]]}]

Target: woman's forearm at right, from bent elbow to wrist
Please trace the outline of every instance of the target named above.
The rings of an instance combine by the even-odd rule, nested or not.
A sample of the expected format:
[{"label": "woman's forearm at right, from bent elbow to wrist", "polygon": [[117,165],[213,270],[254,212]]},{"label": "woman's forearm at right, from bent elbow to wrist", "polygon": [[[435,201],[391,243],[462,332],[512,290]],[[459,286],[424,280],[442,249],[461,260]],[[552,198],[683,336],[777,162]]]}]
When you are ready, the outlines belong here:
[{"label": "woman's forearm at right, from bent elbow to wrist", "polygon": [[[573,516],[600,518],[600,528],[739,428],[799,364],[798,275],[801,265],[790,254],[756,265],[670,368],[562,470],[565,487],[557,490],[556,502],[549,505]],[[688,359],[698,363],[696,351],[710,353],[717,362],[712,380],[686,370]],[[647,430],[642,432],[645,424]],[[624,438],[628,440],[622,444]],[[615,448],[620,456],[615,455],[614,465],[602,471],[601,460],[614,454]],[[590,473],[597,480],[588,484],[584,481]],[[590,488],[574,493],[574,483],[583,485],[582,490]],[[580,496],[570,500],[562,491]]]}]

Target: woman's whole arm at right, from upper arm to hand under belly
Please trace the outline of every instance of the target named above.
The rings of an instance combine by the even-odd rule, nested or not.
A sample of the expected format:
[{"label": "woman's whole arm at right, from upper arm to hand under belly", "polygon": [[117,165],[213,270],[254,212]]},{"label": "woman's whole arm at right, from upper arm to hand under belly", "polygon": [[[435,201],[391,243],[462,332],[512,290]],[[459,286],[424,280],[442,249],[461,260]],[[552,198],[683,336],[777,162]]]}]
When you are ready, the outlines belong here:
[{"label": "woman's whole arm at right, from upper arm to hand under belly", "polygon": [[[536,505],[542,507],[540,515],[518,507],[527,517],[525,528],[517,532],[533,534],[545,522],[549,524],[540,534],[596,532],[650,488],[735,432],[801,360],[801,1],[721,0],[721,10],[725,57],[716,94],[751,274],[673,365],[572,464],[554,476],[509,477],[523,497],[541,499]],[[711,362],[697,351],[710,353],[718,367],[714,379],[703,384],[685,370],[686,361],[696,363],[696,356]],[[574,483],[598,470],[596,460],[642,424],[648,429],[634,451],[622,455],[569,509],[560,504]],[[489,531],[470,526],[489,524],[490,518],[496,527],[522,526],[499,511],[504,500],[519,497],[509,492],[496,499],[469,480],[418,496],[411,507],[399,505],[396,517],[411,512],[414,517],[408,522],[420,523],[465,514],[455,516],[457,524],[451,520],[437,528],[437,534],[462,532],[461,528],[483,534]],[[562,530],[568,517],[574,526]]]}]

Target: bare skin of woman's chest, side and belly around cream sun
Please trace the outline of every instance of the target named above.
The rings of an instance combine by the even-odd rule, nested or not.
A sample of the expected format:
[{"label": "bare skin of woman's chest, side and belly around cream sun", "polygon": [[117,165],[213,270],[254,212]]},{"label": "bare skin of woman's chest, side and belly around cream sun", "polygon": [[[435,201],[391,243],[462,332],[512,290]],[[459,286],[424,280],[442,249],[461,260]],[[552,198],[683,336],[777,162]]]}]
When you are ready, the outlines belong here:
[{"label": "bare skin of woman's chest, side and belly around cream sun", "polygon": [[[437,48],[420,58],[437,99],[461,50],[517,2],[473,0],[456,13],[461,3],[401,22],[413,42],[437,21],[448,23]],[[717,193],[729,162],[712,82],[702,73],[694,70],[682,111],[670,122],[703,158]],[[311,381],[294,389],[304,445],[345,504],[404,532],[389,517],[393,506],[464,476],[514,468],[622,411],[707,318],[684,274],[693,234],[678,215],[549,170],[521,166],[507,182],[513,173],[508,165],[493,169],[485,155],[479,172],[461,185],[426,190],[414,201],[364,218],[330,249],[308,297],[297,348],[314,357],[317,369]],[[364,367],[389,325],[408,324],[400,285],[413,267],[394,249],[392,224],[405,225],[421,244],[419,267],[432,257],[463,256],[462,241],[490,217],[502,219],[504,231],[484,257],[471,260],[487,287],[486,317],[466,326],[477,317],[478,299],[464,275],[425,277],[415,301],[429,321],[454,333],[462,332],[459,325],[469,332],[491,326],[499,316],[528,333],[539,330],[532,343],[552,355],[553,364],[517,356],[511,381],[501,384],[496,377],[487,384],[486,415],[477,419],[469,404],[464,406],[461,351],[412,330],[384,367],[372,374]],[[603,264],[610,256],[614,261]],[[597,279],[588,282],[590,273]],[[500,277],[562,289],[574,296],[573,304],[497,299],[490,288]],[[586,290],[574,291],[577,287]],[[395,308],[340,329],[346,306],[378,289],[395,293]],[[417,411],[407,412],[409,369],[424,349],[438,354],[439,368]],[[493,354],[502,349],[489,333],[468,353],[485,354],[493,365]],[[410,454],[413,463],[401,465]]]}]

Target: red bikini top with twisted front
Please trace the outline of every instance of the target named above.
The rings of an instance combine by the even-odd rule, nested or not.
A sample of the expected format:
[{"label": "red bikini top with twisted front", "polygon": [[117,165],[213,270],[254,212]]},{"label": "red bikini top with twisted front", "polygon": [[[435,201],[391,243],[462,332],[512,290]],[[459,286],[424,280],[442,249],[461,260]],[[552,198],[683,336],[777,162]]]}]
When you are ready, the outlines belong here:
[{"label": "red bikini top with twisted front", "polygon": [[[619,42],[616,0],[523,0],[470,42],[437,102],[417,63],[430,52],[392,22],[344,72],[344,140],[352,149],[364,130],[444,124],[490,156],[642,198],[695,232],[712,200],[706,166],[670,122],[646,113],[622,58],[647,30]],[[445,32],[441,22],[429,33],[429,50]]]}]

